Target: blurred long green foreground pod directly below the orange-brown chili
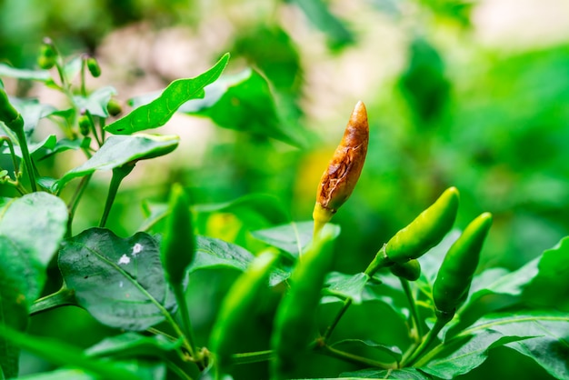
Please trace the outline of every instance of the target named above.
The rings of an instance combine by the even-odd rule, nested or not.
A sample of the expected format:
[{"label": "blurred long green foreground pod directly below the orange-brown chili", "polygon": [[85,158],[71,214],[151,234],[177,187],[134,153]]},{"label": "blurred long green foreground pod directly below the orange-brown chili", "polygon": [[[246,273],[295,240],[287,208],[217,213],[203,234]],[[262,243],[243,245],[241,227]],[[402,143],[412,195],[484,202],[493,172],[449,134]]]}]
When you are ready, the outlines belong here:
[{"label": "blurred long green foreground pod directly below the orange-brown chili", "polygon": [[290,290],[275,315],[271,336],[275,352],[271,363],[272,379],[291,378],[298,357],[314,338],[314,311],[320,302],[324,277],[334,260],[332,248],[338,230],[334,225],[324,226],[294,266]]}]

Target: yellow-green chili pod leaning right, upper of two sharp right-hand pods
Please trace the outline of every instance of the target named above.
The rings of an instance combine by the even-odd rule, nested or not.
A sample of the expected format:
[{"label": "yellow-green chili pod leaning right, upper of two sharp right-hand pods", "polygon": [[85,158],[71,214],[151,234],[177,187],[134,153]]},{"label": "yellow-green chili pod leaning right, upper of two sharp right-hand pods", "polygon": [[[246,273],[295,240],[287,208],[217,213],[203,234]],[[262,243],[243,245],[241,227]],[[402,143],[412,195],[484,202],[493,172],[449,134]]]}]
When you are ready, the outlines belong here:
[{"label": "yellow-green chili pod leaning right, upper of two sharp right-hand pods", "polygon": [[387,242],[385,255],[394,263],[404,263],[424,255],[443,240],[454,224],[457,210],[458,190],[450,187]]}]

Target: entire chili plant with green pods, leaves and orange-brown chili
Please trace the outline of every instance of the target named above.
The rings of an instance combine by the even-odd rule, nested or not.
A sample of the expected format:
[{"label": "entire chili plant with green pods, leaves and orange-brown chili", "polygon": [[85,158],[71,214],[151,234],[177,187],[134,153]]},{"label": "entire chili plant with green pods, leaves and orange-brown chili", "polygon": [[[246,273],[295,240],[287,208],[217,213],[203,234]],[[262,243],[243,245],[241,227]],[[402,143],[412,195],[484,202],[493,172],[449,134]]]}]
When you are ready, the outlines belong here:
[{"label": "entire chili plant with green pods, leaves and orange-brown chili", "polygon": [[[14,194],[0,204],[0,378],[18,375],[18,356],[25,349],[60,365],[25,378],[450,379],[482,365],[498,346],[534,359],[554,377],[569,378],[569,310],[557,304],[568,286],[569,240],[515,272],[477,272],[493,218],[484,213],[462,234],[453,229],[460,212],[455,187],[385,244],[378,242],[360,273],[332,271],[341,226],[330,222],[364,170],[369,127],[362,102],[316,189],[314,221],[253,231],[258,252],[196,235],[195,215],[231,212],[235,205],[268,207],[262,196],[192,205],[184,186],[173,184],[170,202],[149,209],[141,231],[123,238],[107,228],[125,177],[144,165],[140,161],[167,155],[178,145],[176,135],[141,131],[165,125],[175,112],[207,115],[239,129],[259,117],[250,115],[255,107],[245,105],[260,100],[276,117],[264,77],[253,69],[222,75],[228,61],[223,55],[205,73],[175,80],[160,95],[135,99],[134,109],[118,119],[113,87],[86,90],[86,75],[101,73],[95,57],[65,60],[46,39],[41,69],[0,64],[0,76],[42,83],[68,103],[55,109],[0,88],[0,148],[9,157],[3,162],[10,164],[0,180]],[[79,85],[73,85],[75,76]],[[256,88],[255,96],[245,87]],[[52,119],[64,137],[35,142],[40,118]],[[296,143],[294,135],[267,123],[272,125],[267,135]],[[69,150],[83,152],[85,161],[57,178],[40,172],[38,162]],[[73,231],[85,188],[105,170],[112,177],[98,225]],[[64,196],[72,184],[72,195]],[[59,269],[61,288],[45,294],[50,263]],[[219,267],[242,274],[211,321],[208,338],[200,341],[191,321],[200,305],[188,302],[188,284],[198,271]],[[350,309],[365,305],[392,312],[385,320],[364,316],[358,324],[372,326],[368,332],[403,326],[402,344],[382,341],[378,334],[363,336],[345,323]],[[84,308],[116,334],[86,350],[26,334],[30,318],[64,306]],[[261,336],[256,350],[247,345],[252,331]],[[329,357],[334,365],[317,367],[314,374],[308,365],[314,357]]]}]

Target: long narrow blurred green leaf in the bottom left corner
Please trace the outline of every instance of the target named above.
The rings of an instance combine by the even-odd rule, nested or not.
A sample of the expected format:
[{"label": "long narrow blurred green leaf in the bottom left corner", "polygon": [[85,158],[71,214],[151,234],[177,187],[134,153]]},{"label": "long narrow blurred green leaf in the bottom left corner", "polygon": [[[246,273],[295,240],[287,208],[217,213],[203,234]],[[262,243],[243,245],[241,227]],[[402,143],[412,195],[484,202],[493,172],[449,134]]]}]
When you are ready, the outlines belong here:
[{"label": "long narrow blurred green leaf in the bottom left corner", "polygon": [[103,362],[87,357],[81,353],[78,347],[66,345],[50,338],[25,335],[3,325],[0,325],[0,336],[56,365],[73,365],[108,379],[136,380],[139,378],[131,371],[112,362]]}]

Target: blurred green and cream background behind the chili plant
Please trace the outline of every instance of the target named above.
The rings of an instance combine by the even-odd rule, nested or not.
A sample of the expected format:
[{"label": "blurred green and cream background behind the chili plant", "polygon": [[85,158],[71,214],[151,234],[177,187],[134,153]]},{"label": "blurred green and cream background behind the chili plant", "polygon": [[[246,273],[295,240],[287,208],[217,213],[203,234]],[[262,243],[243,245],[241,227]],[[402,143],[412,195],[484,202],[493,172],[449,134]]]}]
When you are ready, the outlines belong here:
[{"label": "blurred green and cream background behind the chili plant", "polygon": [[[195,204],[268,194],[293,220],[309,220],[320,175],[361,99],[370,146],[352,198],[334,217],[343,229],[336,269],[362,271],[450,185],[461,192],[457,227],[483,211],[494,214],[480,268],[515,269],[569,231],[569,5],[553,3],[1,0],[0,61],[35,67],[47,35],[65,55],[97,56],[104,74],[90,85],[115,85],[124,101],[198,75],[226,51],[232,54],[226,73],[252,66],[269,80],[279,123],[301,146],[177,116],[164,133],[182,136],[179,149],[139,165],[118,195],[109,226],[119,235],[132,235],[143,224],[143,202],[164,201],[174,181],[187,186]],[[57,104],[45,89],[6,85]],[[257,105],[252,113],[263,110]],[[62,156],[44,170],[58,176],[68,161]],[[75,233],[101,214],[108,176],[95,179]],[[247,231],[274,225],[267,214],[221,209],[202,215],[199,232],[255,250]],[[208,289],[195,296],[196,305],[213,300],[211,310],[193,311],[204,339],[228,285],[219,278],[225,277],[208,273],[192,285]],[[62,327],[61,318],[75,322]],[[85,313],[62,309],[33,318],[32,331],[88,346],[110,334],[93,326]],[[481,371],[546,377],[505,348],[491,357],[464,378]],[[22,370],[45,365],[24,355]]]}]

